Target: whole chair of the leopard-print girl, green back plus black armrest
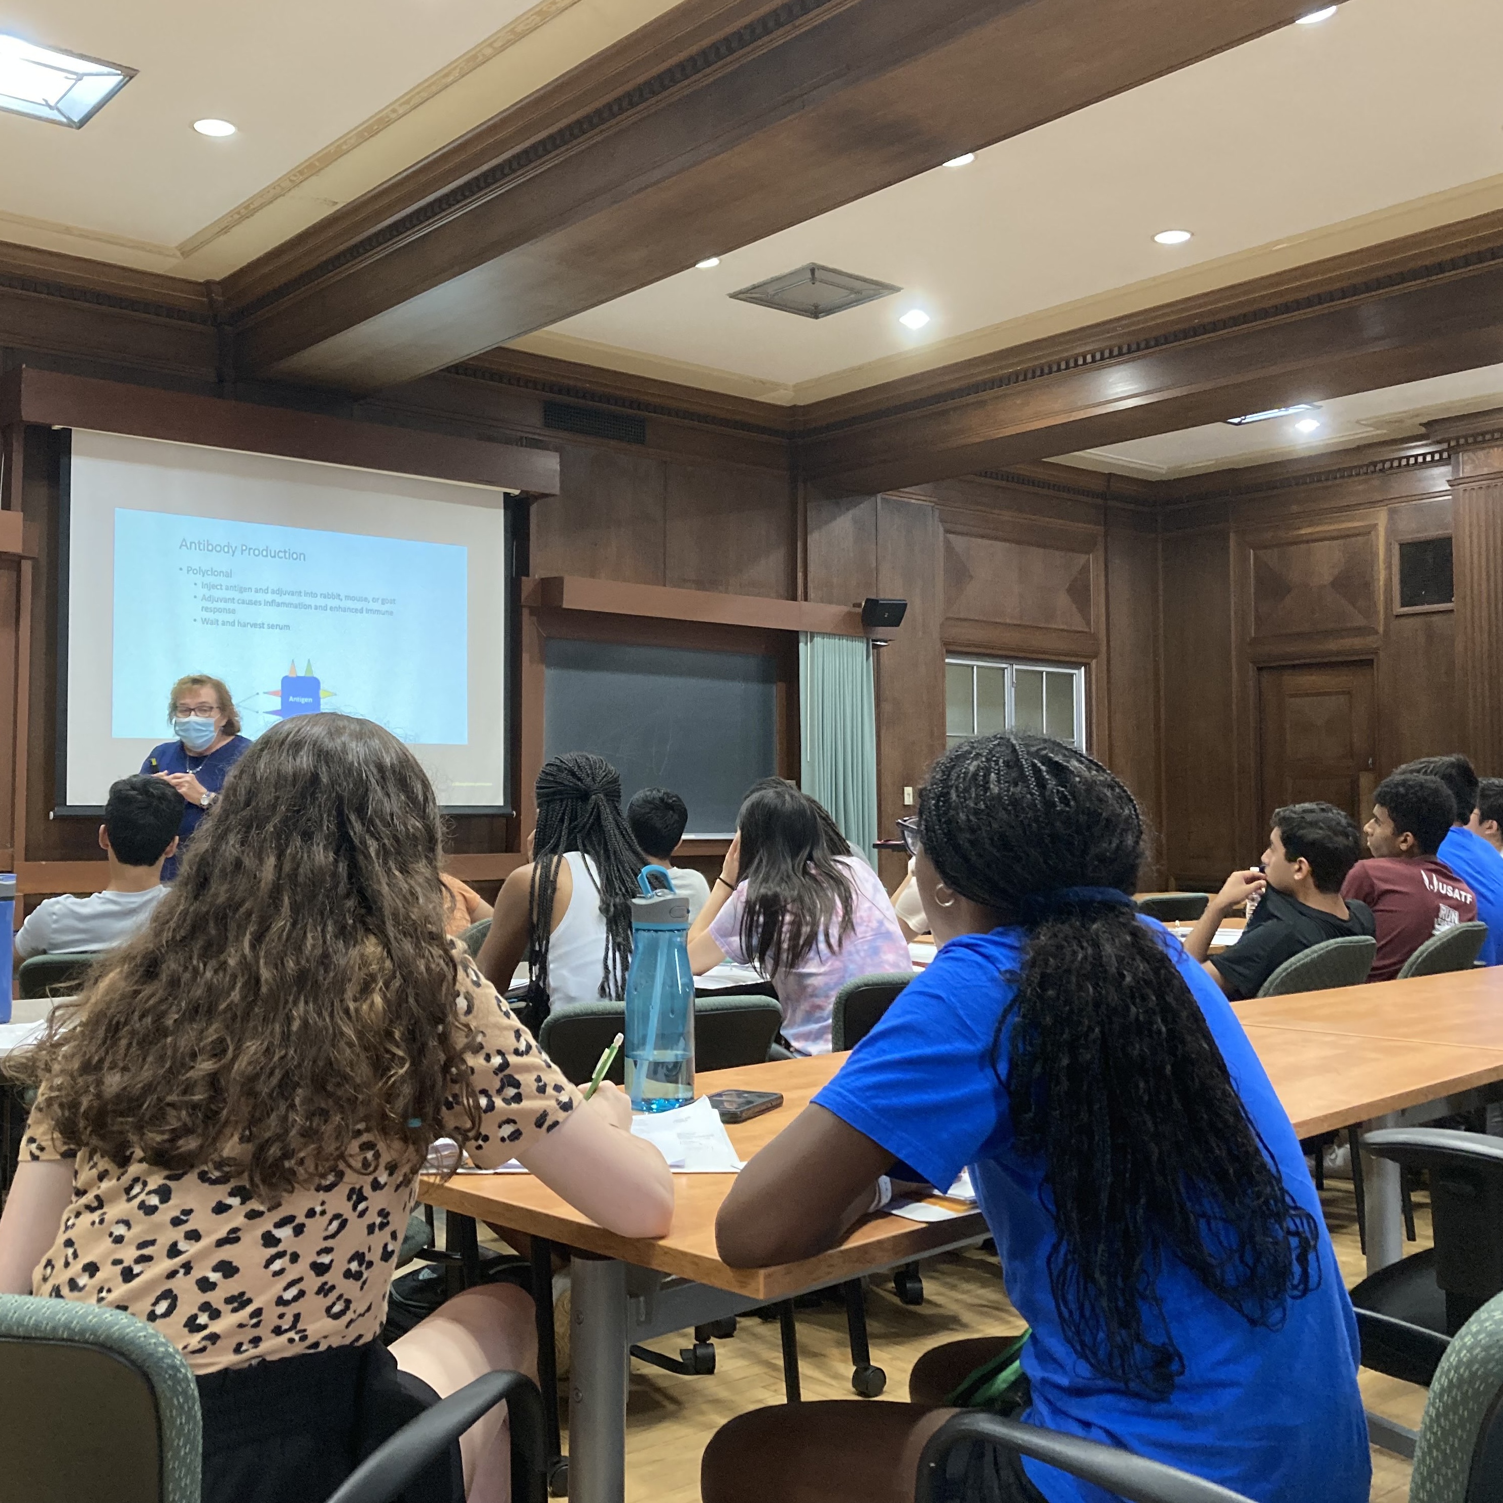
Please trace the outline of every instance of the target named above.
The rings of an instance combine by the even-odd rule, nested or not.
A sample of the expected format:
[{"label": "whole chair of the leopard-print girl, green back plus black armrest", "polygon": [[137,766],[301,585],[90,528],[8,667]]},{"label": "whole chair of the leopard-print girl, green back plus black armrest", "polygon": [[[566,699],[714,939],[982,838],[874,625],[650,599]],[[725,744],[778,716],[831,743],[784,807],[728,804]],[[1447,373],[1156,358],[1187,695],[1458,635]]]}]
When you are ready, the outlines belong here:
[{"label": "whole chair of the leopard-print girl, green back plus black armrest", "polygon": [[[488,1372],[377,1447],[328,1503],[392,1503],[502,1399],[511,1417],[511,1491],[544,1497],[543,1402],[520,1372]],[[5,1474],[27,1503],[198,1503],[198,1389],[182,1353],[123,1311],[0,1296]],[[86,1416],[80,1422],[80,1416]],[[108,1479],[108,1488],[101,1486]]]}]

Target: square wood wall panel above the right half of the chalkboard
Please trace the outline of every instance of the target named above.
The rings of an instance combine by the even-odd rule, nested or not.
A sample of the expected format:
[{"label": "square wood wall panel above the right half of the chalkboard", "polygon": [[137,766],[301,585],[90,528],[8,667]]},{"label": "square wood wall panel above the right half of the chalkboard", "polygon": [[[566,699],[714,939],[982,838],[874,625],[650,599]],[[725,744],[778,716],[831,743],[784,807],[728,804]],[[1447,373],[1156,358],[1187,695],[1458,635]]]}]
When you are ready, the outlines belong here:
[{"label": "square wood wall panel above the right half of the chalkboard", "polygon": [[786,470],[667,466],[666,583],[792,600],[795,502]]}]

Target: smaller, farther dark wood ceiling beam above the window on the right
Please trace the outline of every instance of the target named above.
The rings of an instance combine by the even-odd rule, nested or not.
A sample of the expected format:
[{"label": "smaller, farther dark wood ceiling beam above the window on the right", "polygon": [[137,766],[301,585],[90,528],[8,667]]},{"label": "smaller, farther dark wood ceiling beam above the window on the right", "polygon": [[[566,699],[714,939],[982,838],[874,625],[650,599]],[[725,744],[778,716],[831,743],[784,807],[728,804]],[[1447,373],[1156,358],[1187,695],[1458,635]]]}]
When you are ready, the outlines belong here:
[{"label": "smaller, farther dark wood ceiling beam above the window on the right", "polygon": [[1503,362],[1503,215],[798,410],[803,473],[852,493]]}]

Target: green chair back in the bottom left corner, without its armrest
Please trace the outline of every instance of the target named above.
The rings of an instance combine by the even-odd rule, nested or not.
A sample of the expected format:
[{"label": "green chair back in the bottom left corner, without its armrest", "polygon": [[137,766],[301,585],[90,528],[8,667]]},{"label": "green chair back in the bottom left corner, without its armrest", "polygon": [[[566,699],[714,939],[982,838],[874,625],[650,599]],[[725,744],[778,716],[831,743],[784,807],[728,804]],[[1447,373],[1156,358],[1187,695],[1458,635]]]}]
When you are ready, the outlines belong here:
[{"label": "green chair back in the bottom left corner, without its armrest", "polygon": [[0,1294],[0,1426],[5,1497],[198,1503],[198,1389],[123,1311]]}]

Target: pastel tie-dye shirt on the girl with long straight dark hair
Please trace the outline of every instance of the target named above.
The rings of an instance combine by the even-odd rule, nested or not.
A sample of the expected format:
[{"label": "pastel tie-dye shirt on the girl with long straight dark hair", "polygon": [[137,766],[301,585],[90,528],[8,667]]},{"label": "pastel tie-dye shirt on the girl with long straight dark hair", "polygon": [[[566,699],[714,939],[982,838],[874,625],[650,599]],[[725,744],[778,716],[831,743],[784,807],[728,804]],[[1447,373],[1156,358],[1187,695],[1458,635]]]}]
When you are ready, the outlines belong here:
[{"label": "pastel tie-dye shirt on the girl with long straight dark hair", "polygon": [[[852,932],[834,950],[819,941],[792,969],[768,977],[783,1004],[783,1037],[800,1054],[830,1052],[830,1021],[836,992],[846,981],[854,981],[860,975],[914,968],[908,942],[897,927],[897,915],[876,872],[860,857],[843,855],[837,860],[855,888]],[[747,963],[745,951],[741,948],[745,893],[742,882],[709,924],[709,938],[738,965]],[[842,915],[837,914],[831,927],[839,933],[840,926]]]}]

